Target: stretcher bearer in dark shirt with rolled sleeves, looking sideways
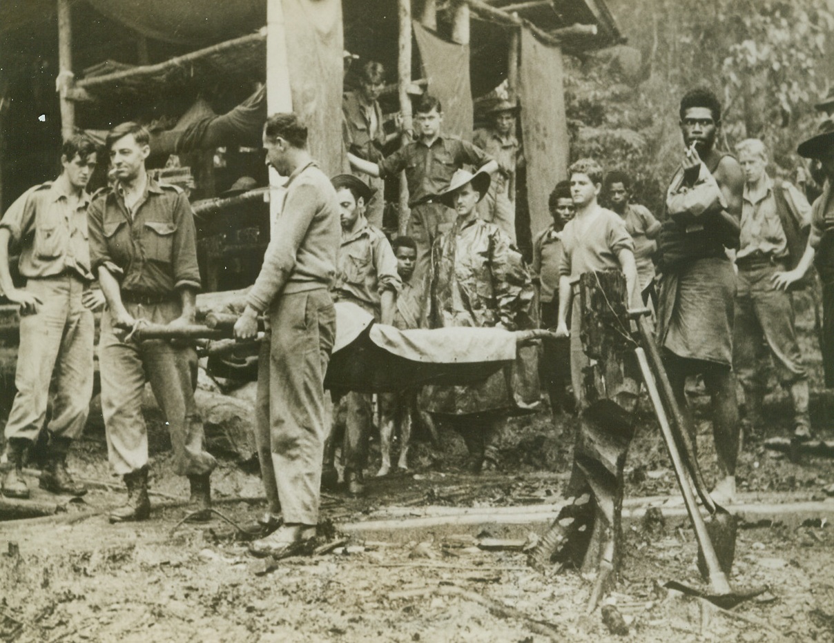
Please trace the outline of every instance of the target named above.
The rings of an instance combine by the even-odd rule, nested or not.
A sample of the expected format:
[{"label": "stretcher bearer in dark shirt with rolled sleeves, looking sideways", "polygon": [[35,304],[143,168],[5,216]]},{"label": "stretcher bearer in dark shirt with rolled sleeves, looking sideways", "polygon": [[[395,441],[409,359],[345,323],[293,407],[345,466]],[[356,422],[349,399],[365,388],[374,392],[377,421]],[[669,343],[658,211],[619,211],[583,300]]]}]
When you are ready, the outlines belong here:
[{"label": "stretcher bearer in dark shirt with rolled sleeves, looking sideways", "polygon": [[142,521],[148,501],[148,431],[142,392],[150,383],[171,436],[173,469],[188,476],[193,519],[211,517],[209,476],[217,466],[205,450],[194,402],[197,353],[160,339],[138,340],[145,323],[193,323],[200,273],[188,198],[159,184],[145,169],[148,130],[134,122],[113,127],[107,147],[115,183],[90,204],[90,252],[109,312],[102,317],[98,364],[108,456],[128,487],[111,522]]}]

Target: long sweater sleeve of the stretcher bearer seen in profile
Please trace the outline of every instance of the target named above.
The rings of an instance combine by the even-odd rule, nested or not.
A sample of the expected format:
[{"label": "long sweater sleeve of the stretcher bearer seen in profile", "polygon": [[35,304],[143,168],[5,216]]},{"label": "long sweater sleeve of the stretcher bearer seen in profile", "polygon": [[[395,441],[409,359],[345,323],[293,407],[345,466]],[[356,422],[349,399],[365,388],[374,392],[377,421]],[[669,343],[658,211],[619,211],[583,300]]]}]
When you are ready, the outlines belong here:
[{"label": "long sweater sleeve of the stretcher bearer seen in profile", "polygon": [[284,211],[275,224],[276,234],[269,240],[264,265],[246,298],[254,310],[264,312],[287,283],[318,202],[316,188],[310,183],[299,183],[287,192]]}]

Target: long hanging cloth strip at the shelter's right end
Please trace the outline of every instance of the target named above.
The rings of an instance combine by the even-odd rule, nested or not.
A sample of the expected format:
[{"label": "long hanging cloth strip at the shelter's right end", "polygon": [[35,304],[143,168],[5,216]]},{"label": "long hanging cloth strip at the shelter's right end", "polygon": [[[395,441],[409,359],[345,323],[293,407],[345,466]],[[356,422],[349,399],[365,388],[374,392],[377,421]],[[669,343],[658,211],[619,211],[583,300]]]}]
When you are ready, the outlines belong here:
[{"label": "long hanging cloth strip at the shelter's right end", "polygon": [[564,73],[559,47],[547,47],[527,29],[521,29],[521,133],[534,237],[550,225],[548,197],[555,184],[567,178],[570,139],[562,88]]}]

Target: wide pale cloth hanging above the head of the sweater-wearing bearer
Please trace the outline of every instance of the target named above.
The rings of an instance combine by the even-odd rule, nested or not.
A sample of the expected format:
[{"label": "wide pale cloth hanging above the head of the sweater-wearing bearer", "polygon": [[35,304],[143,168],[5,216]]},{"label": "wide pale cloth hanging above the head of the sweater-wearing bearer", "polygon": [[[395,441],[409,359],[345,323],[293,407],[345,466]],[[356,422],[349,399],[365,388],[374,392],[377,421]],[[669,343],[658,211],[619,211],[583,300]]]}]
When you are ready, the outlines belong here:
[{"label": "wide pale cloth hanging above the head of the sweater-wearing bearer", "polygon": [[328,176],[342,171],[342,3],[284,0],[293,109],[309,130],[309,150]]}]

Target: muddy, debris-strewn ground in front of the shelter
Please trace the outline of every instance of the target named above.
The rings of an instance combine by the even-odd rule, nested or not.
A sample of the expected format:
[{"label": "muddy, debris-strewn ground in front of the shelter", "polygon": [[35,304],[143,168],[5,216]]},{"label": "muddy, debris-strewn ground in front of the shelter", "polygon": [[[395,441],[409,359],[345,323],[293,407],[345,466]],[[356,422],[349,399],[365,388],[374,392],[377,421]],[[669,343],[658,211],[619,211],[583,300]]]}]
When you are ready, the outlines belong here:
[{"label": "muddy, debris-strewn ground in front of the shelter", "polygon": [[[812,323],[806,315],[802,341],[813,362]],[[834,400],[820,389],[818,362],[812,367],[814,424],[821,436],[832,439]],[[699,448],[711,481],[716,470],[710,426],[703,420],[706,398],[700,389],[692,392],[701,417]],[[152,436],[152,488],[162,495],[152,496],[152,517],[138,525],[111,526],[106,510],[123,500],[120,481],[108,471],[103,434],[88,431],[71,457],[78,476],[98,481],[83,503],[68,503],[58,520],[0,523],[0,637],[22,642],[520,642],[546,641],[550,636],[542,628],[549,628],[554,640],[570,641],[834,641],[834,531],[826,517],[834,515],[834,498],[826,499],[834,461],[806,457],[792,463],[766,451],[762,441],[785,435],[791,422],[789,401],[777,387],[768,396],[767,411],[772,425],[748,437],[741,455],[742,500],[821,501],[827,509],[816,520],[775,510],[770,518],[742,525],[731,583],[736,588],[767,585],[770,591],[731,612],[662,587],[669,580],[691,585],[700,580],[694,536],[680,516],[671,466],[643,400],[625,493],[632,505],[658,506],[665,521],[625,524],[625,569],[608,603],[623,616],[628,634],[611,634],[600,610],[584,614],[590,579],[572,570],[533,570],[524,551],[517,550],[520,543],[505,543],[510,550],[497,551],[475,546],[486,536],[523,542],[546,527],[546,519],[492,521],[491,511],[495,516],[516,511],[511,507],[545,511],[560,501],[570,471],[568,436],[574,420],[563,416],[554,423],[545,407],[510,422],[497,474],[467,475],[462,441],[443,431],[439,450],[417,443],[413,470],[370,481],[366,498],[325,496],[321,542],[344,542],[334,551],[275,566],[251,558],[239,531],[254,528],[264,509],[251,463],[224,460],[213,476],[214,495],[221,501],[217,508],[236,526],[220,518],[176,526],[186,511],[187,482],[170,474],[166,437],[157,433]],[[372,459],[378,466],[375,453]],[[634,500],[648,496],[670,500]],[[240,498],[250,500],[235,500]],[[396,523],[397,516],[401,521],[442,516],[455,507],[483,519],[435,521],[413,529],[357,526]]]}]

